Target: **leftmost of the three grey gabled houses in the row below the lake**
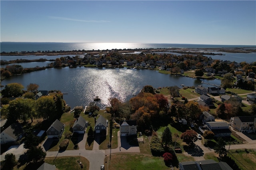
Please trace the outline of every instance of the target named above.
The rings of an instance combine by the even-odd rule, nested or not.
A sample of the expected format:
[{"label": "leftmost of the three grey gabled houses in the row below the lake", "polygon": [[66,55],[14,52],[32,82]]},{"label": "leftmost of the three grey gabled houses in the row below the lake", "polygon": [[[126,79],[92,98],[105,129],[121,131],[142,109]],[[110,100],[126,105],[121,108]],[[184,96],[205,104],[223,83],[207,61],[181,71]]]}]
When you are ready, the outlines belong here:
[{"label": "leftmost of the three grey gabled houses in the row below the lake", "polygon": [[61,123],[58,119],[56,119],[56,121],[54,121],[46,131],[47,137],[60,140],[64,132],[64,127],[65,124]]}]

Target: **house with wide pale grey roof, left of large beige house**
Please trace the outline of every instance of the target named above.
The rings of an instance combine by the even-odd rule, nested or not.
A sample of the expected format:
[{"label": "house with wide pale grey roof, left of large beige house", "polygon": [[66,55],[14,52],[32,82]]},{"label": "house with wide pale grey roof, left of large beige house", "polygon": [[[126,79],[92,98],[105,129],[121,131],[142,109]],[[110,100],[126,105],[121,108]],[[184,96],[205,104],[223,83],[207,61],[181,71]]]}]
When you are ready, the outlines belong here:
[{"label": "house with wide pale grey roof, left of large beige house", "polygon": [[231,135],[228,123],[225,121],[206,122],[208,130],[214,133],[215,137],[226,137]]}]

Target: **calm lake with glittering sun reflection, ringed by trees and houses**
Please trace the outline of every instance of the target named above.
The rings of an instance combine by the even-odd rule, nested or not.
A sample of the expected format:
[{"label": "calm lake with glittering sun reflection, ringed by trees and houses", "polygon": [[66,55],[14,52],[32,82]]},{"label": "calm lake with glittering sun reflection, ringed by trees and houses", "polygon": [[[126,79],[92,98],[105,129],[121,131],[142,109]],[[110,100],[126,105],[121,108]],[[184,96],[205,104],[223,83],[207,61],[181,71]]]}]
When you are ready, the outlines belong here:
[{"label": "calm lake with glittering sun reflection, ringed by trees and houses", "polygon": [[97,105],[104,109],[109,105],[109,98],[115,97],[126,102],[146,85],[154,88],[166,86],[181,88],[180,84],[198,86],[201,81],[220,85],[220,80],[197,80],[185,76],[160,74],[153,70],[86,67],[49,68],[7,78],[1,84],[5,86],[18,82],[26,88],[28,84],[35,83],[39,85],[38,90],[60,90],[68,93],[64,94],[64,100],[71,108],[87,106],[99,96],[101,100]]}]

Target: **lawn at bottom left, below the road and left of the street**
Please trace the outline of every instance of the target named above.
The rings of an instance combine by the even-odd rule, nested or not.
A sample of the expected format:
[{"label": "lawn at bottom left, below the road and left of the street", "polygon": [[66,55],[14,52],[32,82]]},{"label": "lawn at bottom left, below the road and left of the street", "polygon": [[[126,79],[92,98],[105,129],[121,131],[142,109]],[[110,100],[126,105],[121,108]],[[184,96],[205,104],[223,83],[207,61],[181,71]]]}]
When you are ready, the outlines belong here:
[{"label": "lawn at bottom left, below the road and left of the street", "polygon": [[[81,170],[80,165],[78,164],[79,156],[64,156],[64,157],[55,157],[45,158],[45,162],[48,164],[55,165],[58,170]],[[80,157],[80,162],[83,164],[84,170],[89,170],[89,161]]]}]

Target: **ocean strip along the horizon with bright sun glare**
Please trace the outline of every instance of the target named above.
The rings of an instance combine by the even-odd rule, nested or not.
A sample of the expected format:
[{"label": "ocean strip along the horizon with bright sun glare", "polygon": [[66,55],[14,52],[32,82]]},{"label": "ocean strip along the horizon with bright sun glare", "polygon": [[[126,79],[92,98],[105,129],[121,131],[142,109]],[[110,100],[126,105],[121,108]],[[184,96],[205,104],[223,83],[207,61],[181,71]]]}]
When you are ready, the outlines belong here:
[{"label": "ocean strip along the horizon with bright sun glare", "polygon": [[34,43],[34,42],[1,42],[2,52],[21,51],[72,51],[72,50],[110,50],[110,49],[168,49],[168,48],[256,48],[255,45],[200,45],[200,44],[167,44],[167,43]]}]

